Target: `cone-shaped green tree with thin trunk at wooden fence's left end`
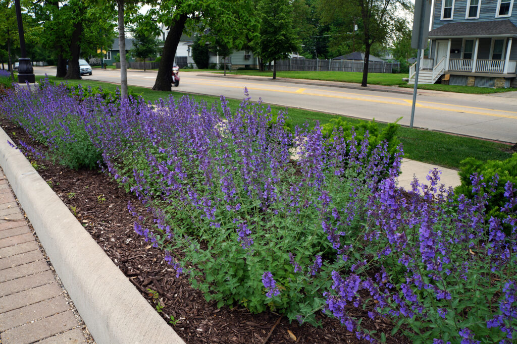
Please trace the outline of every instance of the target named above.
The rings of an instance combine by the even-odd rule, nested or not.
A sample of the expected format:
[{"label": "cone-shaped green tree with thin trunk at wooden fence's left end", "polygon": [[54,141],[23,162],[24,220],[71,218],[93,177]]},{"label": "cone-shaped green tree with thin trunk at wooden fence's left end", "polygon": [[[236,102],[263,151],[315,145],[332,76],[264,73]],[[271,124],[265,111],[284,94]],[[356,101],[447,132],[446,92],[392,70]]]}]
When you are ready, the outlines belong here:
[{"label": "cone-shaped green tree with thin trunk at wooden fence's left end", "polygon": [[258,4],[260,32],[257,53],[264,61],[273,61],[273,79],[277,77],[276,61],[299,49],[293,26],[290,0],[261,0]]}]

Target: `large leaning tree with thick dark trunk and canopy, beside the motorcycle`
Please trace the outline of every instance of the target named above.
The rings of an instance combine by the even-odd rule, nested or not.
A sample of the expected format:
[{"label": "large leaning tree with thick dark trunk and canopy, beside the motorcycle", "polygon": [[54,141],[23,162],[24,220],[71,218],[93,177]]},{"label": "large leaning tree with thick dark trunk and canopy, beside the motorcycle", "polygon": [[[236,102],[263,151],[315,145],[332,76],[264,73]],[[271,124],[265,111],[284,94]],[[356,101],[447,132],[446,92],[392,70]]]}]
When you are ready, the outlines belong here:
[{"label": "large leaning tree with thick dark trunk and canopy, beside the motorcycle", "polygon": [[244,44],[256,28],[251,3],[248,0],[218,0],[217,3],[208,0],[163,0],[157,7],[151,8],[148,11],[148,22],[161,23],[169,28],[153,89],[171,90],[170,75],[174,56],[184,30],[190,33],[202,32],[209,27],[217,33],[216,27],[224,23],[228,30],[240,31],[240,35],[232,35],[236,37],[234,43]]}]

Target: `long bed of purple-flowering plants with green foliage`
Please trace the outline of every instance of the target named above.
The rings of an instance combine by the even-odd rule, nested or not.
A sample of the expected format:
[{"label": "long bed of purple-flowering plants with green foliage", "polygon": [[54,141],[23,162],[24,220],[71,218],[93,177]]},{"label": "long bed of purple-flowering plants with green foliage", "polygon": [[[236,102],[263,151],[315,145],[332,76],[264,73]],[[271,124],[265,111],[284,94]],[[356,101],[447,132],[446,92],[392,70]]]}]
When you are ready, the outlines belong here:
[{"label": "long bed of purple-flowering plants with green foliage", "polygon": [[[392,333],[413,341],[515,335],[511,183],[505,233],[498,219],[485,224],[489,194],[455,201],[437,171],[430,187],[415,181],[404,193],[395,183],[400,153],[390,165],[387,143],[369,151],[368,137],[357,145],[354,134],[338,133],[329,144],[318,126],[297,128],[293,138],[284,114],[271,122],[247,100],[235,114],[223,100],[221,116],[188,98],[151,108],[141,100],[80,102],[49,85],[23,95],[3,98],[0,109],[58,161],[75,163],[73,149],[85,161],[101,154],[147,206],[135,231],[218,306],[273,309],[312,324],[323,310],[370,341],[385,334],[364,329],[353,307],[392,319]],[[486,190],[497,183],[472,180]]]}]

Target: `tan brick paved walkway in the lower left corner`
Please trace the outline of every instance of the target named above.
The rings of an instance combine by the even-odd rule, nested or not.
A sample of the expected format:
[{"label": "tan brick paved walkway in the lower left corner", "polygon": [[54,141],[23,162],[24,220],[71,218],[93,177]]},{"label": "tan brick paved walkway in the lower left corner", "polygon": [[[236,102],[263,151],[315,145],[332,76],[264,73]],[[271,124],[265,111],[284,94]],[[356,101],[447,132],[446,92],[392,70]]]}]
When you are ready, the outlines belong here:
[{"label": "tan brick paved walkway in the lower left corner", "polygon": [[0,344],[93,342],[67,298],[0,169]]}]

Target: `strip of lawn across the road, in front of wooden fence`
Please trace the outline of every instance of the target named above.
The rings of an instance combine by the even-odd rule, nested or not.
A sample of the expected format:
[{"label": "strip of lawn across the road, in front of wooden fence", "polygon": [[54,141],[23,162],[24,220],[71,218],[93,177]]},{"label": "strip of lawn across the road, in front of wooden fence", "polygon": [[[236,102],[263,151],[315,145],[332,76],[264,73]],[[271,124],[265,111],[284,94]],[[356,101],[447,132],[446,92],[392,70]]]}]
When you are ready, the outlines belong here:
[{"label": "strip of lawn across the road, in front of wooden fence", "polygon": [[[222,72],[221,72],[222,73]],[[234,75],[253,75],[253,76],[273,76],[272,71],[261,72],[258,70],[236,70],[226,72],[226,74]],[[309,79],[324,81],[340,81],[345,83],[361,83],[362,73],[359,72],[298,72],[298,71],[278,71],[277,77],[289,77],[292,79]],[[368,83],[372,85],[404,85],[407,82],[402,81],[403,77],[407,77],[407,73],[368,73]]]}]

